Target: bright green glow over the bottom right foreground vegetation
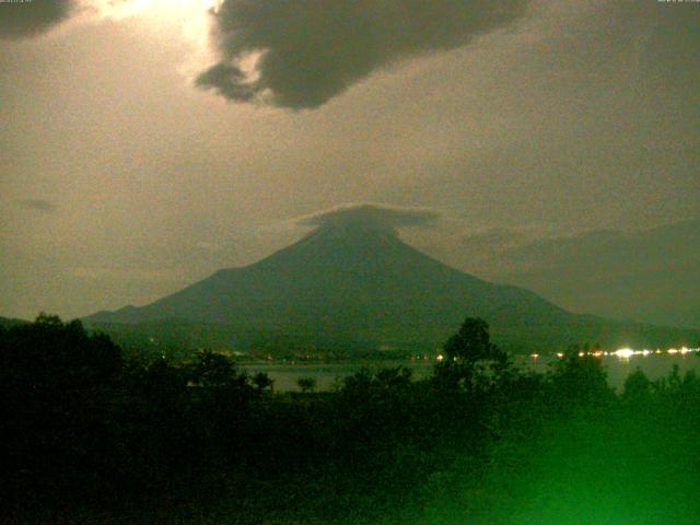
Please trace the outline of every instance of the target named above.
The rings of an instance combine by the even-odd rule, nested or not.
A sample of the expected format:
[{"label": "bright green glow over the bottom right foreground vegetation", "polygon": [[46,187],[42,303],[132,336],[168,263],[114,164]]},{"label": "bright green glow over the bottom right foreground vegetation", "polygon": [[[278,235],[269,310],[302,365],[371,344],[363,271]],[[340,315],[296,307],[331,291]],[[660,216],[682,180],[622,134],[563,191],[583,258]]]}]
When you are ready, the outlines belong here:
[{"label": "bright green glow over the bottom right foreground vegetation", "polygon": [[552,424],[539,443],[503,444],[485,483],[453,472],[463,498],[432,505],[425,523],[697,524],[699,432],[618,416]]}]

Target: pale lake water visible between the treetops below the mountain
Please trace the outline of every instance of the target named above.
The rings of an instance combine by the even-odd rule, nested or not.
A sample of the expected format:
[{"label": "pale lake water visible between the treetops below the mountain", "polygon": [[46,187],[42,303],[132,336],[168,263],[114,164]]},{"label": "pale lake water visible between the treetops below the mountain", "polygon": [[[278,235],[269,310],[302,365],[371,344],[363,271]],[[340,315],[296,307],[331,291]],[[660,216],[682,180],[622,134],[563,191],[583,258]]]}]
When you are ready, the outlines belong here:
[{"label": "pale lake water visible between the treetops below the mountain", "polygon": [[[610,386],[621,392],[627,376],[639,366],[650,380],[657,380],[668,375],[674,364],[680,369],[680,374],[695,370],[700,374],[700,354],[651,354],[633,355],[629,359],[620,359],[614,355],[599,358],[608,373]],[[513,361],[517,366],[545,373],[549,364],[557,358],[541,357],[533,359],[526,355],[517,355]],[[300,377],[313,377],[316,380],[316,390],[330,390],[342,377],[351,375],[362,366],[378,370],[387,366],[405,366],[413,372],[415,378],[427,377],[432,374],[435,361],[368,361],[358,363],[252,363],[241,365],[241,370],[254,374],[265,372],[275,380],[276,392],[298,392],[296,381]]]}]

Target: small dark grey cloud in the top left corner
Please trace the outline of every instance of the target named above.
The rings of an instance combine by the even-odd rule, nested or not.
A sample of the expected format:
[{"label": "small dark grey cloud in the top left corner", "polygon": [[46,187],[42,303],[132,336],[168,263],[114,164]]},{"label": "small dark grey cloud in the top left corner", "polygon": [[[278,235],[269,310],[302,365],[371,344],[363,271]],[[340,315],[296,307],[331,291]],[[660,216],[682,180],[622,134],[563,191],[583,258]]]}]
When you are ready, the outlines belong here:
[{"label": "small dark grey cloud in the top left corner", "polygon": [[37,36],[68,19],[74,0],[0,1],[0,38]]}]

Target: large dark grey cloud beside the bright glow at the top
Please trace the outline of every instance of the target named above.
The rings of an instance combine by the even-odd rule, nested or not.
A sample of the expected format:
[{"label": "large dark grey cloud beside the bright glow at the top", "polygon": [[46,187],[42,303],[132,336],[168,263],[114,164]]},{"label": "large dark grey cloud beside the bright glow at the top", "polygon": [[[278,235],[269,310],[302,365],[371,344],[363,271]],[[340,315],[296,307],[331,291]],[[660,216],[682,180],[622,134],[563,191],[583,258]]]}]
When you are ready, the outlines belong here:
[{"label": "large dark grey cloud beside the bright glow at the top", "polygon": [[220,61],[196,84],[231,101],[314,108],[382,67],[505,26],[528,2],[224,0],[212,11]]}]

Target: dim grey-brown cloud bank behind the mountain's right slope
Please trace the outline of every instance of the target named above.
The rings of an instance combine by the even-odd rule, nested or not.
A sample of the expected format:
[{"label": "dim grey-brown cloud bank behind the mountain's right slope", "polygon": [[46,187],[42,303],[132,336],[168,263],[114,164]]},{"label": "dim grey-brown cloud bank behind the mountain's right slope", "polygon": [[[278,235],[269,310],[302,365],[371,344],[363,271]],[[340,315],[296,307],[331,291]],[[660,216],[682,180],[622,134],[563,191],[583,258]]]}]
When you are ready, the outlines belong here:
[{"label": "dim grey-brown cloud bank behind the mountain's right slope", "polygon": [[595,231],[501,254],[500,281],[579,312],[700,328],[700,219],[635,232]]}]

